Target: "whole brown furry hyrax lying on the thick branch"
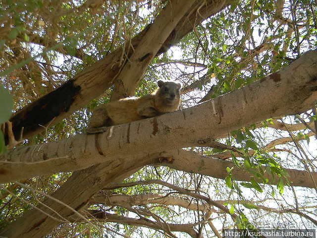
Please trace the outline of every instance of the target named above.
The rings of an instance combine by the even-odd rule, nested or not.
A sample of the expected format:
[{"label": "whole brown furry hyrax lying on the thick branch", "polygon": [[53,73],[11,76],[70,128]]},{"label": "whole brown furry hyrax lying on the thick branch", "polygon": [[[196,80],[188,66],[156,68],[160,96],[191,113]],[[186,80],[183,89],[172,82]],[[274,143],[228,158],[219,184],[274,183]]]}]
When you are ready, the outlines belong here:
[{"label": "whole brown furry hyrax lying on the thick branch", "polygon": [[180,83],[159,80],[158,86],[151,95],[120,99],[97,107],[86,128],[87,133],[104,132],[107,126],[152,118],[177,110],[180,103]]}]

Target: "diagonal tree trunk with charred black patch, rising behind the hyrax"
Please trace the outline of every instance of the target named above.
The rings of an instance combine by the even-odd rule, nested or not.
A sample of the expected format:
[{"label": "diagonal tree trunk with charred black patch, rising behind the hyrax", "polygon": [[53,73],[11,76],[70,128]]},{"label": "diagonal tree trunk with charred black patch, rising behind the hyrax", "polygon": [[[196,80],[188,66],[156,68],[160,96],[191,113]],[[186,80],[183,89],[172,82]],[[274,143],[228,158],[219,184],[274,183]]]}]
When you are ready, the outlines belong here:
[{"label": "diagonal tree trunk with charred black patch, rising behind the hyrax", "polygon": [[[212,14],[220,11],[223,7],[230,4],[231,1],[197,0],[195,6],[186,12],[167,39],[159,42],[159,51],[157,53],[153,51],[150,58],[148,58],[150,55],[147,55],[150,52],[147,52],[141,56],[141,59],[145,57],[144,59],[151,60],[152,57],[166,52],[169,47],[177,44],[183,36],[189,33],[193,27]],[[201,5],[202,2],[204,3],[203,5]],[[199,13],[197,13],[198,6],[200,6]],[[167,19],[170,18],[171,16],[168,16]],[[136,49],[140,45],[140,42],[154,24],[155,22],[148,25],[131,40],[131,44],[126,44],[125,48],[118,48],[104,59],[97,61],[94,65],[75,75],[72,80],[67,81],[59,88],[13,115],[10,121],[13,123],[14,135],[18,136],[22,127],[24,127],[23,138],[30,138],[42,132],[44,130],[43,126],[47,126],[48,124],[50,126],[54,125],[61,119],[69,116],[72,112],[85,107],[91,100],[102,95],[116,81],[116,77],[122,70],[121,56],[125,55],[127,59],[130,58],[133,49]]]}]

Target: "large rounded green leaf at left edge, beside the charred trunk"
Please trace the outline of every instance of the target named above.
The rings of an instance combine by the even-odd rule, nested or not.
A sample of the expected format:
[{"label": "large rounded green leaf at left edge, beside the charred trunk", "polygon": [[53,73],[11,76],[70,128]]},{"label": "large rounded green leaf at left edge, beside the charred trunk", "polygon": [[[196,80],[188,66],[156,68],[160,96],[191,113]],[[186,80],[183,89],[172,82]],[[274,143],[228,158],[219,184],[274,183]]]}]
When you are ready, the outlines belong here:
[{"label": "large rounded green leaf at left edge, beside the charred trunk", "polygon": [[0,123],[7,121],[12,114],[13,99],[9,91],[0,84]]}]

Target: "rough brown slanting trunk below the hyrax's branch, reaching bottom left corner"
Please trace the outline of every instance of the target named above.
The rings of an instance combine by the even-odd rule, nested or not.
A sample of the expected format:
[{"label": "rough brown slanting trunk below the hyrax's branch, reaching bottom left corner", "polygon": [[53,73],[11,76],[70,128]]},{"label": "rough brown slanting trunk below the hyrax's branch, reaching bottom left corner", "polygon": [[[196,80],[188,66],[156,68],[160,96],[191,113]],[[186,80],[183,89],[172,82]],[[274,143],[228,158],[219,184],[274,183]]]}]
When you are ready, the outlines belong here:
[{"label": "rough brown slanting trunk below the hyrax's branch, reaching bottom left corner", "polygon": [[[147,159],[138,160],[138,162],[131,164],[121,159],[107,163],[107,166],[104,163],[74,172],[52,196],[79,211],[86,207],[91,197],[101,190],[105,184],[116,179],[116,181],[122,181],[149,162]],[[81,188],[80,191],[78,190],[79,187]],[[46,199],[43,204],[45,206],[40,204],[37,206],[38,210],[27,211],[20,219],[1,230],[0,236],[42,238],[60,224],[59,220],[52,219],[47,214],[56,217],[57,213],[66,219],[74,214],[70,209],[51,199]]]}]

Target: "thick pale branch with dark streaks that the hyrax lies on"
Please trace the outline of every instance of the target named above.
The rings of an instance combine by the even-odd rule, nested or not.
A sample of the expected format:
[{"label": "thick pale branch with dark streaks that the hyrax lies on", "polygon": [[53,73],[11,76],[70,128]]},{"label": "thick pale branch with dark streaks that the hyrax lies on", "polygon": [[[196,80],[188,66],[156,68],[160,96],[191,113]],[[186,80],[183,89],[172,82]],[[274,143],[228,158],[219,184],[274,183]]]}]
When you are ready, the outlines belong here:
[{"label": "thick pale branch with dark streaks that the hyrax lies on", "polygon": [[113,126],[103,134],[17,148],[0,157],[0,182],[79,170],[122,156],[206,146],[242,126],[305,112],[317,100],[316,65],[317,52],[311,51],[279,72],[193,108]]}]

